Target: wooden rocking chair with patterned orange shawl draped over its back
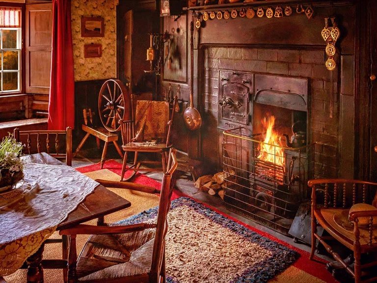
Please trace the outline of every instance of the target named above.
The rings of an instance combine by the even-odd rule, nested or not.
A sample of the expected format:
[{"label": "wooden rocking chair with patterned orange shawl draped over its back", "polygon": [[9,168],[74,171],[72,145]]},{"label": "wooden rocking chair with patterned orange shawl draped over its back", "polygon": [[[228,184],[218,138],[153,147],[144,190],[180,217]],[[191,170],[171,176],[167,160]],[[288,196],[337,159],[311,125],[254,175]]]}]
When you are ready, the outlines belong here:
[{"label": "wooden rocking chair with patterned orange shawl draped over its back", "polygon": [[[133,105],[133,104],[131,104]],[[174,112],[177,105],[177,96],[174,97],[173,105],[170,107],[165,101],[136,102],[135,118],[132,120],[121,120],[120,128],[122,134],[122,149],[125,151],[121,172],[121,180],[127,166],[127,156],[129,152],[134,152],[134,164],[127,170],[133,173],[125,180],[131,179],[136,171],[140,170],[141,164],[161,164],[160,168],[143,168],[142,171],[165,171],[166,154],[172,147],[171,134]],[[134,111],[132,111],[134,113]],[[161,153],[161,161],[138,161],[138,153]]]}]

